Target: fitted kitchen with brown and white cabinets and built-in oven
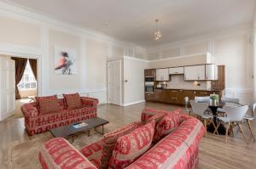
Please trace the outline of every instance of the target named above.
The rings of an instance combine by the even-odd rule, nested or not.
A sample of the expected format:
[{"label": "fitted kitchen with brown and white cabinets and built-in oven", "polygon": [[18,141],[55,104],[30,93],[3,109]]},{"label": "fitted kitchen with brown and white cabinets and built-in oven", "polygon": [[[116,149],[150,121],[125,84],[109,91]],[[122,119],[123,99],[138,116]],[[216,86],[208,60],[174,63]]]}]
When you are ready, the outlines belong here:
[{"label": "fitted kitchen with brown and white cabinets and built-in oven", "polygon": [[218,94],[225,88],[224,65],[187,65],[144,70],[145,100],[184,105],[185,99]]}]

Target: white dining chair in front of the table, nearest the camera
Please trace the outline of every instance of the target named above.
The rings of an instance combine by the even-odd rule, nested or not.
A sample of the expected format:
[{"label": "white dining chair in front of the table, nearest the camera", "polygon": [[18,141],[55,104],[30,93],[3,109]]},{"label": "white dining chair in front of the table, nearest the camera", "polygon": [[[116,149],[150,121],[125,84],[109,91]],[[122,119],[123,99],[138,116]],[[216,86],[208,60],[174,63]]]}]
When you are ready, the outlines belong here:
[{"label": "white dining chair in front of the table, nearest the camera", "polygon": [[247,113],[248,105],[243,105],[243,106],[224,105],[223,109],[227,114],[227,116],[218,117],[218,120],[219,120],[218,125],[213,133],[218,131],[218,127],[220,126],[221,123],[226,124],[225,141],[226,143],[228,143],[229,130],[232,133],[232,136],[234,136],[233,128],[238,126],[245,142],[247,143],[247,138],[245,137],[245,134],[241,128],[241,124],[243,122],[244,116]]}]

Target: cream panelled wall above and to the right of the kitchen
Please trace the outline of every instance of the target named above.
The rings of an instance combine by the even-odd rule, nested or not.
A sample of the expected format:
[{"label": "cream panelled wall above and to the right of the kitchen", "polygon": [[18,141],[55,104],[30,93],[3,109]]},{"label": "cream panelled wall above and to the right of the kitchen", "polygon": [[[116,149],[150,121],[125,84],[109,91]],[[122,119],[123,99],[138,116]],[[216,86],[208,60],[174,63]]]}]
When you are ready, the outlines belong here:
[{"label": "cream panelled wall above and to the right of the kitchen", "polygon": [[[200,64],[206,60],[193,59],[195,57],[193,55],[208,52],[212,54],[215,64],[225,65],[226,95],[241,99],[241,103],[253,102],[253,43],[251,37],[251,28],[228,30],[218,35],[196,37],[188,41],[148,48],[148,59],[152,60],[149,65],[156,68],[187,65],[188,62],[191,63],[189,65],[195,62]],[[193,57],[184,60],[183,55]]]}]

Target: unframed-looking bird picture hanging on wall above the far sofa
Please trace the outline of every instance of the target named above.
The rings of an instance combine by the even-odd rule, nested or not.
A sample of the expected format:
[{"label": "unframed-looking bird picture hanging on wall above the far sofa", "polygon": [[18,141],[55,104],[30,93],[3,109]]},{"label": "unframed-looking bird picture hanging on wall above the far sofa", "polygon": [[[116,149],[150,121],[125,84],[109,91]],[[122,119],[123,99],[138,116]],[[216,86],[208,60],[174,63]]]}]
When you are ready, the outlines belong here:
[{"label": "unframed-looking bird picture hanging on wall above the far sofa", "polygon": [[76,57],[77,51],[73,48],[55,47],[55,74],[76,74]]}]

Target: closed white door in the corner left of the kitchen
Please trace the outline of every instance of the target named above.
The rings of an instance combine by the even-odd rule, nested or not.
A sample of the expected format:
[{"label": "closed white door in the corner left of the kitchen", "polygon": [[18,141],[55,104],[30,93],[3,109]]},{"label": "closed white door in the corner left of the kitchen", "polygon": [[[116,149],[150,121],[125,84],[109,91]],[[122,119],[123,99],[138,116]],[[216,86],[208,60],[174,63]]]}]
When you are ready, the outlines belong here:
[{"label": "closed white door in the corner left of the kitchen", "polygon": [[122,60],[108,61],[108,103],[121,105]]}]

